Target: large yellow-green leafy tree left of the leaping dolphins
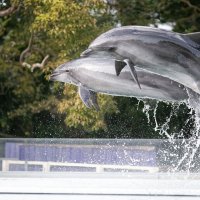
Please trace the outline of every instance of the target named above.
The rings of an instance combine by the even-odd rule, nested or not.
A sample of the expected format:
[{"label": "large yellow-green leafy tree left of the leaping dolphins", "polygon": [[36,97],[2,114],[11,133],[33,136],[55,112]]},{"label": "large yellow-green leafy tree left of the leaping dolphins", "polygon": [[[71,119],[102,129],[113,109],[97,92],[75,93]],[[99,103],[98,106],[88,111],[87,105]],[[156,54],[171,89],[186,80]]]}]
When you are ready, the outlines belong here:
[{"label": "large yellow-green leafy tree left of the leaping dolphins", "polygon": [[36,136],[38,118],[45,112],[50,121],[51,112],[58,119],[65,115],[67,126],[78,130],[104,128],[105,113],[117,110],[112,97],[100,96],[101,111],[91,112],[83,106],[75,87],[48,81],[56,66],[78,57],[110,26],[107,21],[96,25],[100,15],[105,15],[104,2],[5,1],[0,12],[1,132]]}]

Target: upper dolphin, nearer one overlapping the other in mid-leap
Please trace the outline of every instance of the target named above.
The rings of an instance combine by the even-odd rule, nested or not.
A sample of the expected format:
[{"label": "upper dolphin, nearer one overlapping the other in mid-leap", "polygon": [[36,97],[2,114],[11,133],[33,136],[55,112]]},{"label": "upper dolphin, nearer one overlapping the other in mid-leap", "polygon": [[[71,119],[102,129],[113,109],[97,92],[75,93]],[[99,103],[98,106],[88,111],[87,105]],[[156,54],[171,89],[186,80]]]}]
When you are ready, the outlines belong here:
[{"label": "upper dolphin, nearer one overlapping the other in mid-leap", "polygon": [[93,54],[114,56],[116,75],[129,66],[138,87],[141,80],[136,68],[141,68],[200,94],[200,32],[180,34],[142,26],[114,28],[97,37],[81,56]]}]

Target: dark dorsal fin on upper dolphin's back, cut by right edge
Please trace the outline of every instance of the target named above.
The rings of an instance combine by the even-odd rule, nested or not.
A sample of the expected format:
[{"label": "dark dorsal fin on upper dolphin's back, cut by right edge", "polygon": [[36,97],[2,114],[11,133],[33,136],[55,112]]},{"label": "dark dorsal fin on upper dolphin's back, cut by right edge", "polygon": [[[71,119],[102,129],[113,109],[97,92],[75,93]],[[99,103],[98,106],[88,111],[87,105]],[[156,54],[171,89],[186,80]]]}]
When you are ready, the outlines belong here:
[{"label": "dark dorsal fin on upper dolphin's back, cut by right edge", "polygon": [[182,34],[181,36],[189,45],[200,50],[200,32]]}]

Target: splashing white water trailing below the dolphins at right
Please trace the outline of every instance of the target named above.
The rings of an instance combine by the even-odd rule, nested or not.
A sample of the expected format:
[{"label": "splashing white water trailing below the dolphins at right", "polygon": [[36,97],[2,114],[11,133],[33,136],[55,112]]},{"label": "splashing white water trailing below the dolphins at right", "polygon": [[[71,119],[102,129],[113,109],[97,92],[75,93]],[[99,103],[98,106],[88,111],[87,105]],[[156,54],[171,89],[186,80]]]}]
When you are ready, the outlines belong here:
[{"label": "splashing white water trailing below the dolphins at right", "polygon": [[[150,106],[144,101],[143,112],[145,113],[148,123],[151,120],[154,121],[154,130],[158,132],[162,137],[166,137],[168,140],[164,144],[164,148],[161,148],[163,160],[168,163],[167,171],[187,171],[197,172],[199,166],[197,161],[199,148],[200,148],[200,97],[198,94],[191,90],[187,90],[189,99],[186,102],[180,102],[171,105],[171,112],[166,117],[165,122],[160,124],[157,118],[157,110],[159,102],[155,106]],[[169,133],[170,122],[173,116],[176,116],[181,104],[185,103],[191,110],[188,119],[185,121],[187,126],[191,121],[194,122],[194,128],[190,131],[191,137],[189,139],[176,140],[184,137],[184,127],[179,132]],[[151,115],[151,113],[153,113]],[[153,117],[151,117],[153,116]],[[170,150],[169,150],[170,149]],[[170,152],[170,155],[169,155]],[[177,157],[178,155],[178,157]]]}]

